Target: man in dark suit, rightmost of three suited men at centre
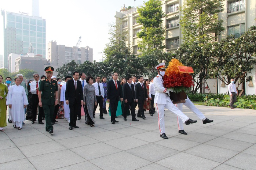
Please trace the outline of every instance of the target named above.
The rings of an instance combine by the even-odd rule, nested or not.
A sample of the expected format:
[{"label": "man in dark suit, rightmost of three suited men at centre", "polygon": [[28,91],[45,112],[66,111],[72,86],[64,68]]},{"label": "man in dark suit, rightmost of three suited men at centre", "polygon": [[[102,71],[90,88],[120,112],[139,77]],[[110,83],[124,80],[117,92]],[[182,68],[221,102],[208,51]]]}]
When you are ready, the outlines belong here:
[{"label": "man in dark suit, rightmost of three suited men at centre", "polygon": [[138,114],[137,117],[142,117],[145,119],[143,105],[144,101],[147,101],[147,88],[146,84],[143,83],[143,77],[138,77],[139,82],[135,85],[135,101],[138,103]]}]

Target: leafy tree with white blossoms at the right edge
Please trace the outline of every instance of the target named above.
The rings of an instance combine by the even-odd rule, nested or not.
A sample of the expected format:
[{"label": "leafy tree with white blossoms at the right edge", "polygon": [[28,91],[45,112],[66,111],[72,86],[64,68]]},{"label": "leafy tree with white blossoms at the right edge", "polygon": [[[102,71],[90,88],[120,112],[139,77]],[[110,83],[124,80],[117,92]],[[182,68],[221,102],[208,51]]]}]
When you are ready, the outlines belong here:
[{"label": "leafy tree with white blossoms at the right edge", "polygon": [[215,64],[211,65],[213,75],[222,80],[226,85],[230,78],[234,78],[241,85],[242,91],[245,91],[245,82],[251,80],[248,73],[256,64],[256,26],[252,26],[244,35],[235,39],[228,36],[220,42],[213,45],[213,60]]}]

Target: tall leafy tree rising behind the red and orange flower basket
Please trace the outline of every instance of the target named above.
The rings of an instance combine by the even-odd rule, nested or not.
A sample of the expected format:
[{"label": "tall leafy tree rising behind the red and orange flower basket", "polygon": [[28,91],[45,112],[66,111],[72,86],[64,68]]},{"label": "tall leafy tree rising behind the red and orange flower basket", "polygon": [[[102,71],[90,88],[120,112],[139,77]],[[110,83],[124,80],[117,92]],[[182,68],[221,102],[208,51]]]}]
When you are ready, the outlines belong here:
[{"label": "tall leafy tree rising behind the red and orange flower basket", "polygon": [[180,25],[183,33],[183,45],[177,50],[182,63],[194,69],[193,92],[200,88],[208,78],[212,41],[217,40],[224,27],[218,13],[223,11],[224,0],[185,0],[181,8]]}]

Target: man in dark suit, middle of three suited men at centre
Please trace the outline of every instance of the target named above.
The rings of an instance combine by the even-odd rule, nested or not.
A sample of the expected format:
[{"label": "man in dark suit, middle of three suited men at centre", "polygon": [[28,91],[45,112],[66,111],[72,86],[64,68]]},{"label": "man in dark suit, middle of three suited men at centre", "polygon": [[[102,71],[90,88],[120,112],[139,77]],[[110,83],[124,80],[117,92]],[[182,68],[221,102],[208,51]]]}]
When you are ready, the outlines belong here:
[{"label": "man in dark suit, middle of three suited men at centre", "polygon": [[139,121],[136,119],[135,114],[135,92],[134,92],[134,85],[132,84],[132,78],[128,76],[126,78],[127,83],[122,86],[122,93],[124,95],[124,110],[122,115],[124,116],[124,120],[126,121],[127,116],[126,113],[129,110],[129,106],[131,107],[132,113],[132,121]]}]

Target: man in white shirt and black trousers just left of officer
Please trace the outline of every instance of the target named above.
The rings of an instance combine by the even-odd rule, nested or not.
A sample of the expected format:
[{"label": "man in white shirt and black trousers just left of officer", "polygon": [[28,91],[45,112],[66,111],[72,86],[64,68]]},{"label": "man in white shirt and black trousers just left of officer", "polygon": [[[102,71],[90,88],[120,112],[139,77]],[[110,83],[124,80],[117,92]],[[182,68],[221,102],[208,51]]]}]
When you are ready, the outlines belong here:
[{"label": "man in white shirt and black trousers just left of officer", "polygon": [[[39,74],[34,73],[33,74],[34,81],[30,84],[30,92],[32,93],[32,124],[36,121],[36,115],[37,115],[37,106],[39,105],[39,98],[38,98],[38,92],[39,92]],[[38,123],[43,125],[43,107],[38,108]]]}]

